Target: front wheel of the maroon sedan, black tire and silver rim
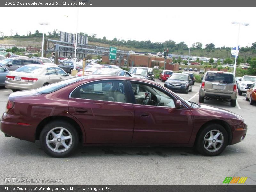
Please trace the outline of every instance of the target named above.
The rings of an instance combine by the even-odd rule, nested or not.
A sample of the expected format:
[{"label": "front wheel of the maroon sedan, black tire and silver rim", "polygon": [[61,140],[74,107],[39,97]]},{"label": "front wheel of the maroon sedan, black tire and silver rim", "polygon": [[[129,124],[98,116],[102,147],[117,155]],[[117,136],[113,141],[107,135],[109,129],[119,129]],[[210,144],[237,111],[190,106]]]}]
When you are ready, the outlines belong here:
[{"label": "front wheel of the maroon sedan, black tire and silver rim", "polygon": [[[210,135],[212,132],[212,137]],[[218,137],[217,133],[220,133]],[[211,140],[211,141],[207,141]],[[222,141],[221,143],[218,142]],[[214,142],[213,142],[214,141]],[[210,144],[211,142],[211,144]],[[215,145],[215,148],[214,148]],[[198,132],[196,140],[196,149],[205,156],[216,156],[223,152],[228,145],[228,133],[224,127],[219,124],[209,124]],[[209,147],[208,147],[209,146]],[[207,149],[208,147],[208,149]]]}]

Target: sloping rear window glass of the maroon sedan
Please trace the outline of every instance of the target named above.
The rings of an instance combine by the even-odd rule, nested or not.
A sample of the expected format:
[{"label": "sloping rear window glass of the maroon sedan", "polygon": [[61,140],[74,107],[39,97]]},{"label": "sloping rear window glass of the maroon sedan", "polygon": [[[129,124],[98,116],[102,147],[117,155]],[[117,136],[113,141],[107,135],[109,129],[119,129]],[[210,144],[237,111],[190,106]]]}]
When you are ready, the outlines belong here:
[{"label": "sloping rear window glass of the maroon sedan", "polygon": [[49,84],[49,85],[46,85],[46,86],[43,86],[43,87],[40,87],[40,88],[36,89],[36,92],[43,93],[43,94],[52,93],[52,92],[55,92],[55,91],[61,89],[62,87],[65,87],[69,84],[80,81],[82,79],[84,79],[83,76],[67,79],[67,80],[60,81],[60,82],[57,82],[57,83],[54,83],[54,84]]}]

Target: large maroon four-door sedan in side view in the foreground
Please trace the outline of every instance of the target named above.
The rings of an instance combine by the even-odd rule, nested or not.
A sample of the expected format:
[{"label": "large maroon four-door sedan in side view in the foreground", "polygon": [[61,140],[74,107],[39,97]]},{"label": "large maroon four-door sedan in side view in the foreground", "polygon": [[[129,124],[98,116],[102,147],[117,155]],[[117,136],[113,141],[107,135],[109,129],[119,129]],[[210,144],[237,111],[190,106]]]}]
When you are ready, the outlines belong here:
[{"label": "large maroon four-door sedan in side view in the foreground", "polygon": [[[132,87],[139,85],[138,95]],[[10,94],[5,136],[35,142],[53,157],[84,146],[195,146],[220,154],[247,132],[232,112],[188,102],[159,84],[126,76],[88,75]]]}]

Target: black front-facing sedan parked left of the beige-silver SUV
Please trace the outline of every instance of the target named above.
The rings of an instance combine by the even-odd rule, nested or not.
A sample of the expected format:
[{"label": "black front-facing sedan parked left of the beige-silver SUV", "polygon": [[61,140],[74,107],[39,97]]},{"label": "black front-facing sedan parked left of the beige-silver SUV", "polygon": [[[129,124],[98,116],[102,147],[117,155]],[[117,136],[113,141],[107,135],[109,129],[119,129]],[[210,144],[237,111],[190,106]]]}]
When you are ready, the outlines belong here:
[{"label": "black front-facing sedan parked left of the beige-silver SUV", "polygon": [[164,87],[172,91],[188,93],[192,91],[193,82],[188,74],[173,73],[164,83]]}]

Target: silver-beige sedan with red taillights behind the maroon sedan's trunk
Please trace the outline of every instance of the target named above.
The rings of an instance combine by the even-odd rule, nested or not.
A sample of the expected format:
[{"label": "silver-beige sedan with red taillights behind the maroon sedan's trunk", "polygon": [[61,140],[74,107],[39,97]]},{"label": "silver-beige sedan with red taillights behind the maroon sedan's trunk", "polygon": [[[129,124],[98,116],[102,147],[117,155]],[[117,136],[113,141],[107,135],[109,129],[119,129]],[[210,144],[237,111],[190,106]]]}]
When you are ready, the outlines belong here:
[{"label": "silver-beige sedan with red taillights behind the maroon sedan's trunk", "polygon": [[48,84],[72,78],[59,67],[25,65],[6,76],[5,88],[12,91],[36,89]]}]

